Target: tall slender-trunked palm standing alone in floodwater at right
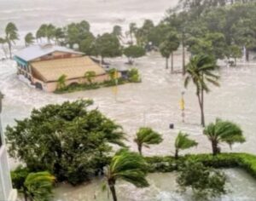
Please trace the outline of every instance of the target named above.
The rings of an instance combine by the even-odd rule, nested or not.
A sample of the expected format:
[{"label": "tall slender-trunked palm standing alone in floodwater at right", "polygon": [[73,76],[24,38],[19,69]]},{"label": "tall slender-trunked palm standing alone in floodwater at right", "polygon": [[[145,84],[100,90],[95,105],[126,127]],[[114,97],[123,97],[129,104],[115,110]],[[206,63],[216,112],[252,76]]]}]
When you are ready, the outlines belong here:
[{"label": "tall slender-trunked palm standing alone in floodwater at right", "polygon": [[201,109],[201,125],[203,127],[205,127],[204,92],[206,91],[208,93],[210,91],[207,82],[219,86],[219,77],[212,73],[217,68],[216,60],[213,60],[209,55],[195,55],[186,66],[187,76],[184,86],[187,88],[191,80],[195,84],[196,96]]}]

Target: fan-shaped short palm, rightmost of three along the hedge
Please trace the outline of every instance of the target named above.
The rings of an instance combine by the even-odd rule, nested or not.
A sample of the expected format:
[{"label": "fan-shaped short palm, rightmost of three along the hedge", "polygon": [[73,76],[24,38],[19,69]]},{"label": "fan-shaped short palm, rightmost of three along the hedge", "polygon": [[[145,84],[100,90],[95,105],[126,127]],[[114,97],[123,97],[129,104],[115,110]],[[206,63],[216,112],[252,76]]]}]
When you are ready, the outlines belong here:
[{"label": "fan-shaped short palm, rightmost of three along the hedge", "polygon": [[213,155],[220,152],[220,142],[229,144],[231,148],[234,143],[243,143],[245,141],[242,130],[236,123],[223,121],[219,118],[216,119],[215,123],[207,125],[207,128],[204,129],[204,135],[207,135],[212,143]]}]

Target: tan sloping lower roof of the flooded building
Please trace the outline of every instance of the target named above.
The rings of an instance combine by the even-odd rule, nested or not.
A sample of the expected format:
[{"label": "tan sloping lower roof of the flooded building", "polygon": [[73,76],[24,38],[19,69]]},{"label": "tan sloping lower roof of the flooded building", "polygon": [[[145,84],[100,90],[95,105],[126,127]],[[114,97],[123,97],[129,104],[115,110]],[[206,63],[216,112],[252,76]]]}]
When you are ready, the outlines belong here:
[{"label": "tan sloping lower roof of the flooded building", "polygon": [[44,60],[32,62],[32,72],[44,82],[57,81],[61,75],[67,79],[83,78],[85,72],[96,72],[97,75],[105,74],[105,70],[96,64],[89,56],[73,57],[59,60]]}]

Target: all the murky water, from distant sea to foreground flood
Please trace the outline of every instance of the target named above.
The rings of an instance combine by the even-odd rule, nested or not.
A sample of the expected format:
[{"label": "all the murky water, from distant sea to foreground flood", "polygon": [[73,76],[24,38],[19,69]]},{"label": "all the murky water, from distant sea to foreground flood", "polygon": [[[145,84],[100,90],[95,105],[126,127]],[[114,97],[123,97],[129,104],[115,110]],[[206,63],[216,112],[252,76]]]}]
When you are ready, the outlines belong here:
[{"label": "all the murky water, from distant sea to foreground flood", "polygon": [[[158,0],[0,0],[0,35],[3,27],[14,21],[20,29],[20,35],[34,32],[42,23],[51,22],[63,26],[72,21],[88,20],[93,32],[106,32],[119,24],[128,26],[131,21],[141,23],[144,19],[158,21],[165,10],[177,1]],[[20,37],[22,38],[22,37]],[[3,54],[0,53],[0,58]],[[125,66],[125,58],[111,60],[114,66]],[[179,130],[187,132],[199,142],[199,146],[189,152],[211,152],[210,143],[202,135],[199,106],[195,97],[195,89],[189,86],[185,91],[186,122],[182,123],[179,100],[183,91],[183,78],[180,74],[170,74],[165,69],[165,60],[160,55],[152,54],[137,60],[135,67],[142,74],[143,83],[130,83],[119,86],[118,95],[113,89],[96,89],[76,92],[67,95],[47,94],[33,89],[21,82],[15,72],[15,63],[10,60],[0,62],[0,89],[5,95],[3,102],[3,128],[7,124],[14,125],[15,118],[29,116],[33,107],[49,103],[61,103],[64,100],[93,99],[95,106],[121,124],[127,134],[127,144],[131,150],[137,147],[133,137],[141,126],[152,127],[159,131],[164,141],[158,146],[143,150],[145,155],[173,154],[174,139]],[[181,55],[175,55],[175,68],[181,67]],[[241,125],[247,142],[235,145],[233,152],[256,153],[256,66],[245,65],[236,68],[221,68],[221,87],[212,87],[206,96],[207,123],[215,118],[232,120]],[[174,123],[175,129],[169,129]],[[230,151],[222,145],[223,151]],[[185,152],[184,152],[185,153]],[[11,167],[15,161],[10,160]],[[255,198],[255,181],[240,170],[227,170],[234,192],[224,200],[253,200]],[[174,174],[153,174],[148,176],[153,184],[149,188],[136,189],[126,183],[119,183],[118,192],[122,200],[188,200],[175,192]],[[61,186],[56,190],[55,200],[93,200],[96,193],[101,196],[100,181],[92,181],[84,187]]]}]

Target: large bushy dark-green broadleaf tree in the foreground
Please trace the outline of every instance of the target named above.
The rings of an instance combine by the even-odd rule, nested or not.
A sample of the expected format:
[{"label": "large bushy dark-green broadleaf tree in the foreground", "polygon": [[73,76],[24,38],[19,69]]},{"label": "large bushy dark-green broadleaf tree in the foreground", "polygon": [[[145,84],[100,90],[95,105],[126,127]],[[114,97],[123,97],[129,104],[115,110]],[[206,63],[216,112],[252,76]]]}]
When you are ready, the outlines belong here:
[{"label": "large bushy dark-green broadleaf tree in the foreground", "polygon": [[48,170],[58,181],[77,184],[108,162],[110,144],[124,146],[121,127],[91,100],[33,109],[30,118],[6,129],[9,154],[34,172]]}]

